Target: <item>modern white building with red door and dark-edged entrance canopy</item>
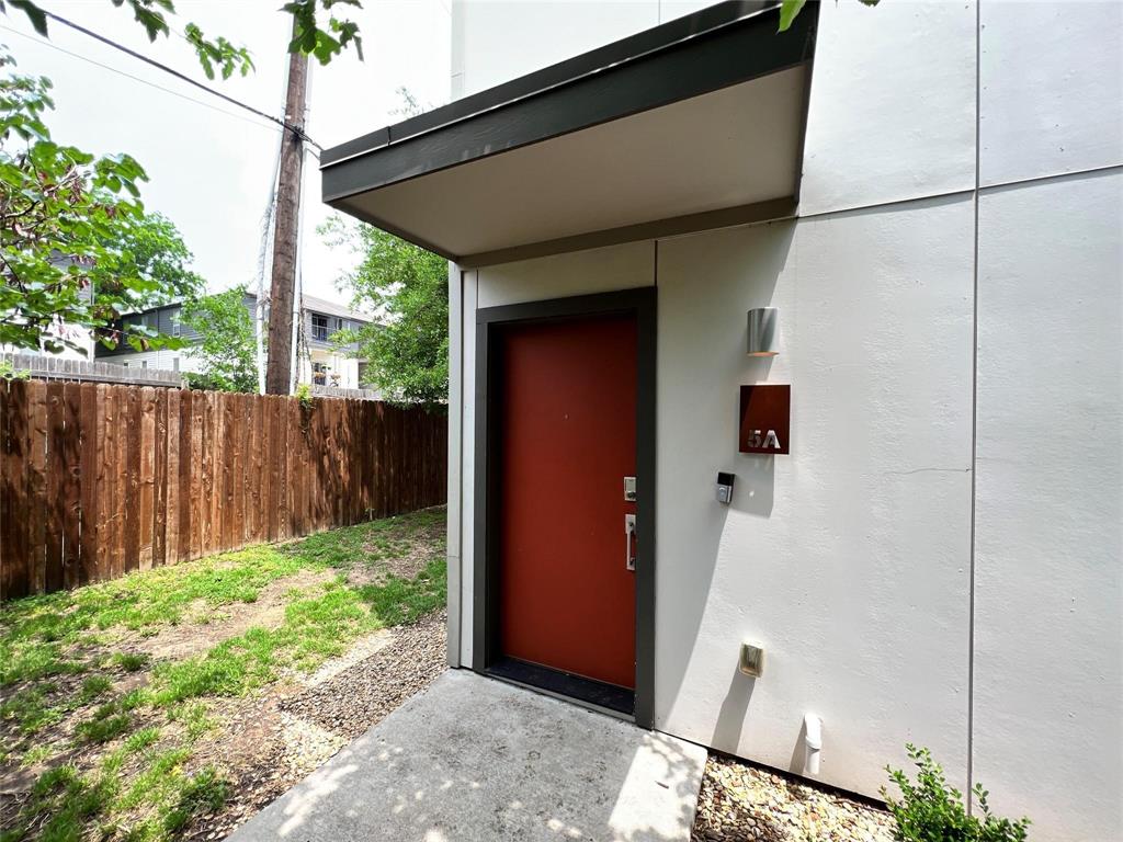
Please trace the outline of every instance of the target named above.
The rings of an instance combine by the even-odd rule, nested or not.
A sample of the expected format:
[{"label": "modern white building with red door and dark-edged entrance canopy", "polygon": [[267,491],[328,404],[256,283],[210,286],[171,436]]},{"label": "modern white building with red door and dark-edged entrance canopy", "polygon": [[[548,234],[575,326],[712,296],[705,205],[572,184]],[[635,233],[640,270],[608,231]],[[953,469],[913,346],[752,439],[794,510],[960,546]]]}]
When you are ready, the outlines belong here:
[{"label": "modern white building with red door and dark-edged entrance canopy", "polygon": [[1123,838],[1123,4],[701,6],[454,0],[322,155],[454,264],[450,663]]}]

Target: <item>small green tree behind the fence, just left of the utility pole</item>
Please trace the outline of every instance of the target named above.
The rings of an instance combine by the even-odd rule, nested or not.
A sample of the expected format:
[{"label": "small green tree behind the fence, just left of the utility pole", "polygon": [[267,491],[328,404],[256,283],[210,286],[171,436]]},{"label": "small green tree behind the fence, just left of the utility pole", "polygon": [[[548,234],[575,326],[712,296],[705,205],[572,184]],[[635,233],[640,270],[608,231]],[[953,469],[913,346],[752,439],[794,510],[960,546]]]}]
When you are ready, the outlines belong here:
[{"label": "small green tree behind the fence, just left of the utility pole", "polygon": [[186,374],[192,388],[257,392],[254,320],[245,298],[246,287],[236,286],[183,303],[181,320],[202,337],[185,351],[201,368]]}]

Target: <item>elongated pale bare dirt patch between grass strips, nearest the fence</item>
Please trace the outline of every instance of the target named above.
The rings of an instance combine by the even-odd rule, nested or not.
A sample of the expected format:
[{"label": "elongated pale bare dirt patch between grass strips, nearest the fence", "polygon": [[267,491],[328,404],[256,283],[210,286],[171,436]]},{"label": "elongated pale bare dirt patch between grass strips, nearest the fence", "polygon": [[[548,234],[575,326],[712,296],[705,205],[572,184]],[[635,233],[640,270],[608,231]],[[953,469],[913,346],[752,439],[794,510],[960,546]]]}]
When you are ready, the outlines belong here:
[{"label": "elongated pale bare dirt patch between grass strips, nearest the fence", "polygon": [[[198,601],[186,615],[189,620],[170,625],[152,637],[129,635],[120,641],[122,651],[140,652],[155,660],[180,660],[221,643],[229,638],[245,634],[249,629],[276,629],[284,622],[287,594],[293,588],[308,591],[335,578],[332,570],[301,570],[283,579],[271,582],[250,603],[231,603],[221,611],[208,612],[206,601]],[[206,620],[206,622],[200,622]]]}]

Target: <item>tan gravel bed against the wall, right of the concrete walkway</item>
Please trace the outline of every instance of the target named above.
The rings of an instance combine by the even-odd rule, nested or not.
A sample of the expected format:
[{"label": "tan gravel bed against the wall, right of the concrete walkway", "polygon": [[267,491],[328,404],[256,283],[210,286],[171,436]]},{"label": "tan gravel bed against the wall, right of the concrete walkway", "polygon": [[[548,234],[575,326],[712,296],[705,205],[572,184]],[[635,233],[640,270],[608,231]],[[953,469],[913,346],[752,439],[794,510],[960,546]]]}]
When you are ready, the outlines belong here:
[{"label": "tan gravel bed against the wall, right of the concrete walkway", "polygon": [[710,754],[692,842],[892,842],[885,811]]}]

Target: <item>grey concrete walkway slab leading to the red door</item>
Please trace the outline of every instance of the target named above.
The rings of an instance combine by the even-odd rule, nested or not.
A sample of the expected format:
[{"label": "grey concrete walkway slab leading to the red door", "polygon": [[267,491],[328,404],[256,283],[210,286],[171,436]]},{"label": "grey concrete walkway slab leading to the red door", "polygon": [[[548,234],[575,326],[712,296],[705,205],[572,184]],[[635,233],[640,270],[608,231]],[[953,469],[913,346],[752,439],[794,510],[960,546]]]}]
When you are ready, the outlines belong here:
[{"label": "grey concrete walkway slab leading to the red door", "polygon": [[687,842],[705,749],[450,670],[230,840]]}]

